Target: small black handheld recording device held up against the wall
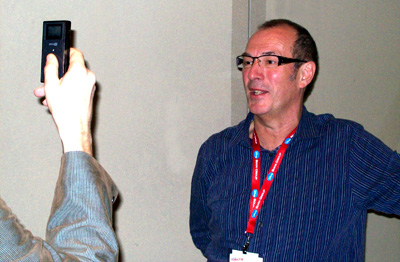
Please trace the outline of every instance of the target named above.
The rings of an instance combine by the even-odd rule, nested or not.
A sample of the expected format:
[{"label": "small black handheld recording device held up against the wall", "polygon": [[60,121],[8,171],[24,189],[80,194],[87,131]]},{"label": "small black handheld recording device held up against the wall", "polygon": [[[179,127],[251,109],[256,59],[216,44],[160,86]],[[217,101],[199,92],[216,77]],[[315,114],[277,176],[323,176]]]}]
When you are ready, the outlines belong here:
[{"label": "small black handheld recording device held up against the wall", "polygon": [[44,82],[44,67],[46,57],[52,53],[58,60],[58,77],[61,78],[68,70],[69,51],[71,47],[71,21],[44,21],[42,40],[42,70],[40,82]]}]

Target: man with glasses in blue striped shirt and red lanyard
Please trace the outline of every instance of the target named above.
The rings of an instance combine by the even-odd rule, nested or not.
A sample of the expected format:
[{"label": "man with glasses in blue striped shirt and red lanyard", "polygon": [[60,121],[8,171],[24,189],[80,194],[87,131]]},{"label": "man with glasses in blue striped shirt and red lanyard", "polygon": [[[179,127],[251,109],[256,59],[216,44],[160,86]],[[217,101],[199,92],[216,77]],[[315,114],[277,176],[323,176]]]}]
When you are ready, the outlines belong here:
[{"label": "man with glasses in blue striped shirt and red lanyard", "polygon": [[264,23],[237,65],[250,113],[199,151],[195,245],[208,261],[364,261],[367,210],[400,214],[399,154],[307,111],[318,53],[300,25]]}]

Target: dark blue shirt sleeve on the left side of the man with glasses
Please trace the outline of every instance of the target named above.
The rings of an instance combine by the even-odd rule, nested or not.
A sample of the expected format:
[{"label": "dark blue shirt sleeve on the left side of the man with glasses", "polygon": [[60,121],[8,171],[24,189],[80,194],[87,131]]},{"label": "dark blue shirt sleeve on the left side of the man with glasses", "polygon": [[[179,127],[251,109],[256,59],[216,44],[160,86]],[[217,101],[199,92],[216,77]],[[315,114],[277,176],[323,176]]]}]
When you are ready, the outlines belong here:
[{"label": "dark blue shirt sleeve on the left side of the man with glasses", "polygon": [[211,233],[208,227],[211,218],[207,207],[207,177],[210,168],[205,154],[205,145],[200,148],[194,169],[190,199],[190,233],[193,243],[203,254],[211,242]]}]

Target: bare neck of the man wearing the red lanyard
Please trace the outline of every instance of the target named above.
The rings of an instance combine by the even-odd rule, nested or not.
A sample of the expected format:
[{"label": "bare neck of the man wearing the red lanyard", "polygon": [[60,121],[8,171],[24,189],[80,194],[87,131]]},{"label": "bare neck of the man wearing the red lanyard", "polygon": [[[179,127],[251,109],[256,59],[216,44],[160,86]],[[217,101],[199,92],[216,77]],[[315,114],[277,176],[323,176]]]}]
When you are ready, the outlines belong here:
[{"label": "bare neck of the man wearing the red lanyard", "polygon": [[299,125],[301,114],[302,108],[298,112],[279,118],[255,115],[249,130],[250,137],[253,137],[255,128],[261,146],[267,150],[274,150]]}]

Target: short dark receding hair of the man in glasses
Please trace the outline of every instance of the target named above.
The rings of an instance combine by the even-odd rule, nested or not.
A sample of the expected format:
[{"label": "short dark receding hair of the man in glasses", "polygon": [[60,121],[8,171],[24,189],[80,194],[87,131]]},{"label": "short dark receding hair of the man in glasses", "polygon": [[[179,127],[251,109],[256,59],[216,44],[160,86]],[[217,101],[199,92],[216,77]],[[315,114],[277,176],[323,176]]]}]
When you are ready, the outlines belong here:
[{"label": "short dark receding hair of the man in glasses", "polygon": [[[266,21],[258,27],[258,30],[265,30],[273,27],[280,26],[289,26],[293,28],[297,32],[297,39],[293,44],[292,55],[293,58],[302,59],[306,61],[313,61],[315,63],[315,75],[313,81],[309,84],[308,93],[311,92],[311,89],[314,85],[314,82],[317,78],[317,74],[319,71],[319,61],[318,61],[318,50],[317,45],[315,44],[314,39],[311,34],[305,29],[303,26],[296,24],[287,19],[273,19]],[[294,70],[297,73],[297,70],[300,68],[302,63],[295,63]],[[308,94],[307,94],[308,95]]]}]

